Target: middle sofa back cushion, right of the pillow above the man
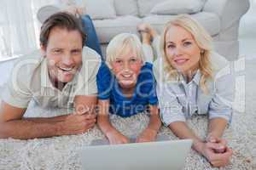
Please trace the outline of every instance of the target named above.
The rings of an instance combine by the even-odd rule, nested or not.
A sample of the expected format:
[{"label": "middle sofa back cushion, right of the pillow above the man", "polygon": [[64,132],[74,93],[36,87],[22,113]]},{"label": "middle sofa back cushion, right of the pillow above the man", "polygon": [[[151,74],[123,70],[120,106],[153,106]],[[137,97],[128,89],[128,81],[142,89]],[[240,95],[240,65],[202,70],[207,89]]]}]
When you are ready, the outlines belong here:
[{"label": "middle sofa back cushion, right of the pillow above the man", "polygon": [[114,0],[114,6],[117,15],[138,15],[137,0]]}]

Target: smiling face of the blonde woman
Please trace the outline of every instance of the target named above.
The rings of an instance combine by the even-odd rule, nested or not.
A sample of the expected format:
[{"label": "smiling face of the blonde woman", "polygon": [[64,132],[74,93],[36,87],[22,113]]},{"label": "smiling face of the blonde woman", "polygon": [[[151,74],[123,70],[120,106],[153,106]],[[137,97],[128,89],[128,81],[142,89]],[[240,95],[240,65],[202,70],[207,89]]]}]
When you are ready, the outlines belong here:
[{"label": "smiling face of the blonde woman", "polygon": [[171,26],[166,32],[166,57],[177,71],[191,75],[198,69],[201,49],[189,31]]}]

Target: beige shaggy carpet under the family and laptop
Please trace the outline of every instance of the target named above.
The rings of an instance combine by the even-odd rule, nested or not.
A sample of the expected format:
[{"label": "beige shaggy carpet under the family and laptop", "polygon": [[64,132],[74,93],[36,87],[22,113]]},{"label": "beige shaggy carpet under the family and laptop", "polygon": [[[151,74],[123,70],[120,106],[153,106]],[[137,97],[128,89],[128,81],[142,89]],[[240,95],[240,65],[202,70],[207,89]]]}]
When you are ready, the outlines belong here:
[{"label": "beige shaggy carpet under the family and laptop", "polygon": [[[253,73],[256,62],[247,63],[246,71],[242,62],[237,65],[236,73],[236,112],[232,125],[224,133],[224,138],[228,139],[230,147],[234,150],[234,156],[229,166],[220,168],[223,170],[256,169],[256,98],[254,96],[256,74]],[[245,73],[247,77],[244,76]],[[245,80],[247,88],[245,88]],[[67,111],[43,110],[32,103],[26,116],[56,116],[65,112]],[[148,116],[140,114],[126,119],[113,116],[112,122],[125,135],[134,136],[147,126]],[[189,126],[203,138],[207,132],[207,117],[194,117],[189,121]],[[160,134],[166,134],[170,139],[177,139],[166,127],[161,128]],[[81,135],[32,140],[0,139],[0,170],[80,170],[78,150],[84,145],[89,145],[93,139],[102,138],[101,131],[95,127]],[[212,168],[204,157],[190,150],[184,169],[218,168]]]}]

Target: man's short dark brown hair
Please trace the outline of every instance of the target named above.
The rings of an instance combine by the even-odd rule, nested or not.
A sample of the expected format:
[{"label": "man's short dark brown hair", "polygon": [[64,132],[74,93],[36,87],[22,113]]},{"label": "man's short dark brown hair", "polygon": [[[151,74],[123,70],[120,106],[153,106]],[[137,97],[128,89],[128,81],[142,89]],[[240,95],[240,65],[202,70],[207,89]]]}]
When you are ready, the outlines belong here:
[{"label": "man's short dark brown hair", "polygon": [[44,21],[41,26],[40,31],[40,44],[44,47],[47,46],[49,39],[49,32],[54,27],[60,27],[63,29],[67,29],[67,31],[79,31],[82,37],[83,46],[86,40],[86,34],[83,31],[83,26],[81,20],[77,18],[73,14],[69,14],[67,12],[59,12],[56,14],[52,14],[49,16],[47,20]]}]

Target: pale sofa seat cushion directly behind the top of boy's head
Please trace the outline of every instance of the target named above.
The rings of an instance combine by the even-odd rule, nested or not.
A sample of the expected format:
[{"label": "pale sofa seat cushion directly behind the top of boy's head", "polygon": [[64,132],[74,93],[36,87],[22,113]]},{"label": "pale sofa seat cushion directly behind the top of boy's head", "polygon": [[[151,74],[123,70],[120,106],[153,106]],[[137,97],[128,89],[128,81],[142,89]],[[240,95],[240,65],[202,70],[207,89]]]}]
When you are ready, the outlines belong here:
[{"label": "pale sofa seat cushion directly behind the top of boy's head", "polygon": [[137,25],[141,22],[141,19],[131,15],[119,16],[114,20],[93,20],[101,43],[109,42],[122,32],[137,33]]}]

